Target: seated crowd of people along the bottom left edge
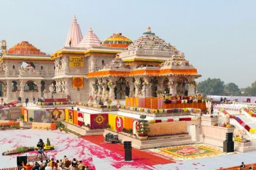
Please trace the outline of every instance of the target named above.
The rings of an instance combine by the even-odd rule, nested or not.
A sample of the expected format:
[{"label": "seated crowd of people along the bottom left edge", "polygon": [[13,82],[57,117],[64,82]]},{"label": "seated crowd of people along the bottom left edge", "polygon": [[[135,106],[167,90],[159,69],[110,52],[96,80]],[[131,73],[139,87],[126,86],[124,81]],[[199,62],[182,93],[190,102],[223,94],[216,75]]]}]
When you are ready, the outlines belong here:
[{"label": "seated crowd of people along the bottom left edge", "polygon": [[22,168],[23,170],[90,170],[82,161],[78,161],[76,158],[69,160],[66,156],[60,160],[52,158],[46,161],[41,160],[40,163],[37,161],[32,164],[27,163],[26,165],[23,163]]}]

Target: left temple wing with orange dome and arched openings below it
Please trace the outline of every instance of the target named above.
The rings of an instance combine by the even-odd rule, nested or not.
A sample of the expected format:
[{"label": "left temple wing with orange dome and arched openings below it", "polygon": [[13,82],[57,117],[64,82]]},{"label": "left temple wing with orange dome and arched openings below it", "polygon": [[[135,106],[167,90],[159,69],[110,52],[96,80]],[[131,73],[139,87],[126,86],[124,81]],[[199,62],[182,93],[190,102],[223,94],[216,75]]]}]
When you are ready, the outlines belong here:
[{"label": "left temple wing with orange dome and arched openings below it", "polygon": [[50,55],[22,41],[0,58],[0,96],[5,101],[42,98],[54,82],[54,61]]}]

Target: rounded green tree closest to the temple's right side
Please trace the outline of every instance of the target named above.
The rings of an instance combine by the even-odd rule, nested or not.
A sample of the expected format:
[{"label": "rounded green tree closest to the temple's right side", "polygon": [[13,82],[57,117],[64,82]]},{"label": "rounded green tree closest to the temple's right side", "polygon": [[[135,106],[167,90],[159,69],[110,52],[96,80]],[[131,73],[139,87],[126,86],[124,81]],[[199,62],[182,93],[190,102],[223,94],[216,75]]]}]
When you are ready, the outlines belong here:
[{"label": "rounded green tree closest to the temple's right side", "polygon": [[219,78],[208,78],[198,83],[197,91],[203,95],[223,95],[224,81]]}]

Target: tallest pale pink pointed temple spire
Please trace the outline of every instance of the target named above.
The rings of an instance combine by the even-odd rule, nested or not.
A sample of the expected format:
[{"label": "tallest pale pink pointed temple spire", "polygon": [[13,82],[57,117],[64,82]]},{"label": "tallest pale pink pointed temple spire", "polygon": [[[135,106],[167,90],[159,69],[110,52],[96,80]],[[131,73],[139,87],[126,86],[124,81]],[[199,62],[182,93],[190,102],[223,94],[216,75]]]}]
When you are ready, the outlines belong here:
[{"label": "tallest pale pink pointed temple spire", "polygon": [[79,24],[77,24],[76,15],[74,15],[68,32],[68,37],[66,38],[65,47],[76,47],[82,39],[82,32],[80,30]]}]

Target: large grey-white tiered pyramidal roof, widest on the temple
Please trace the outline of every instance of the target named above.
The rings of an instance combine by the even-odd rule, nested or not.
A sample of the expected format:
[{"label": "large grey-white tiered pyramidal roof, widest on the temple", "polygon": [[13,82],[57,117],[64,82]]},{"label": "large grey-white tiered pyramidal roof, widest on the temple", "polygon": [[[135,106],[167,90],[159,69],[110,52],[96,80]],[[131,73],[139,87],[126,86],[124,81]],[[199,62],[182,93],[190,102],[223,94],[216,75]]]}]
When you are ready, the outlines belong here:
[{"label": "large grey-white tiered pyramidal roof, widest on the temple", "polygon": [[126,50],[158,50],[165,52],[178,53],[176,47],[159,38],[155,33],[151,32],[151,27],[148,27],[137,40],[133,41]]}]

